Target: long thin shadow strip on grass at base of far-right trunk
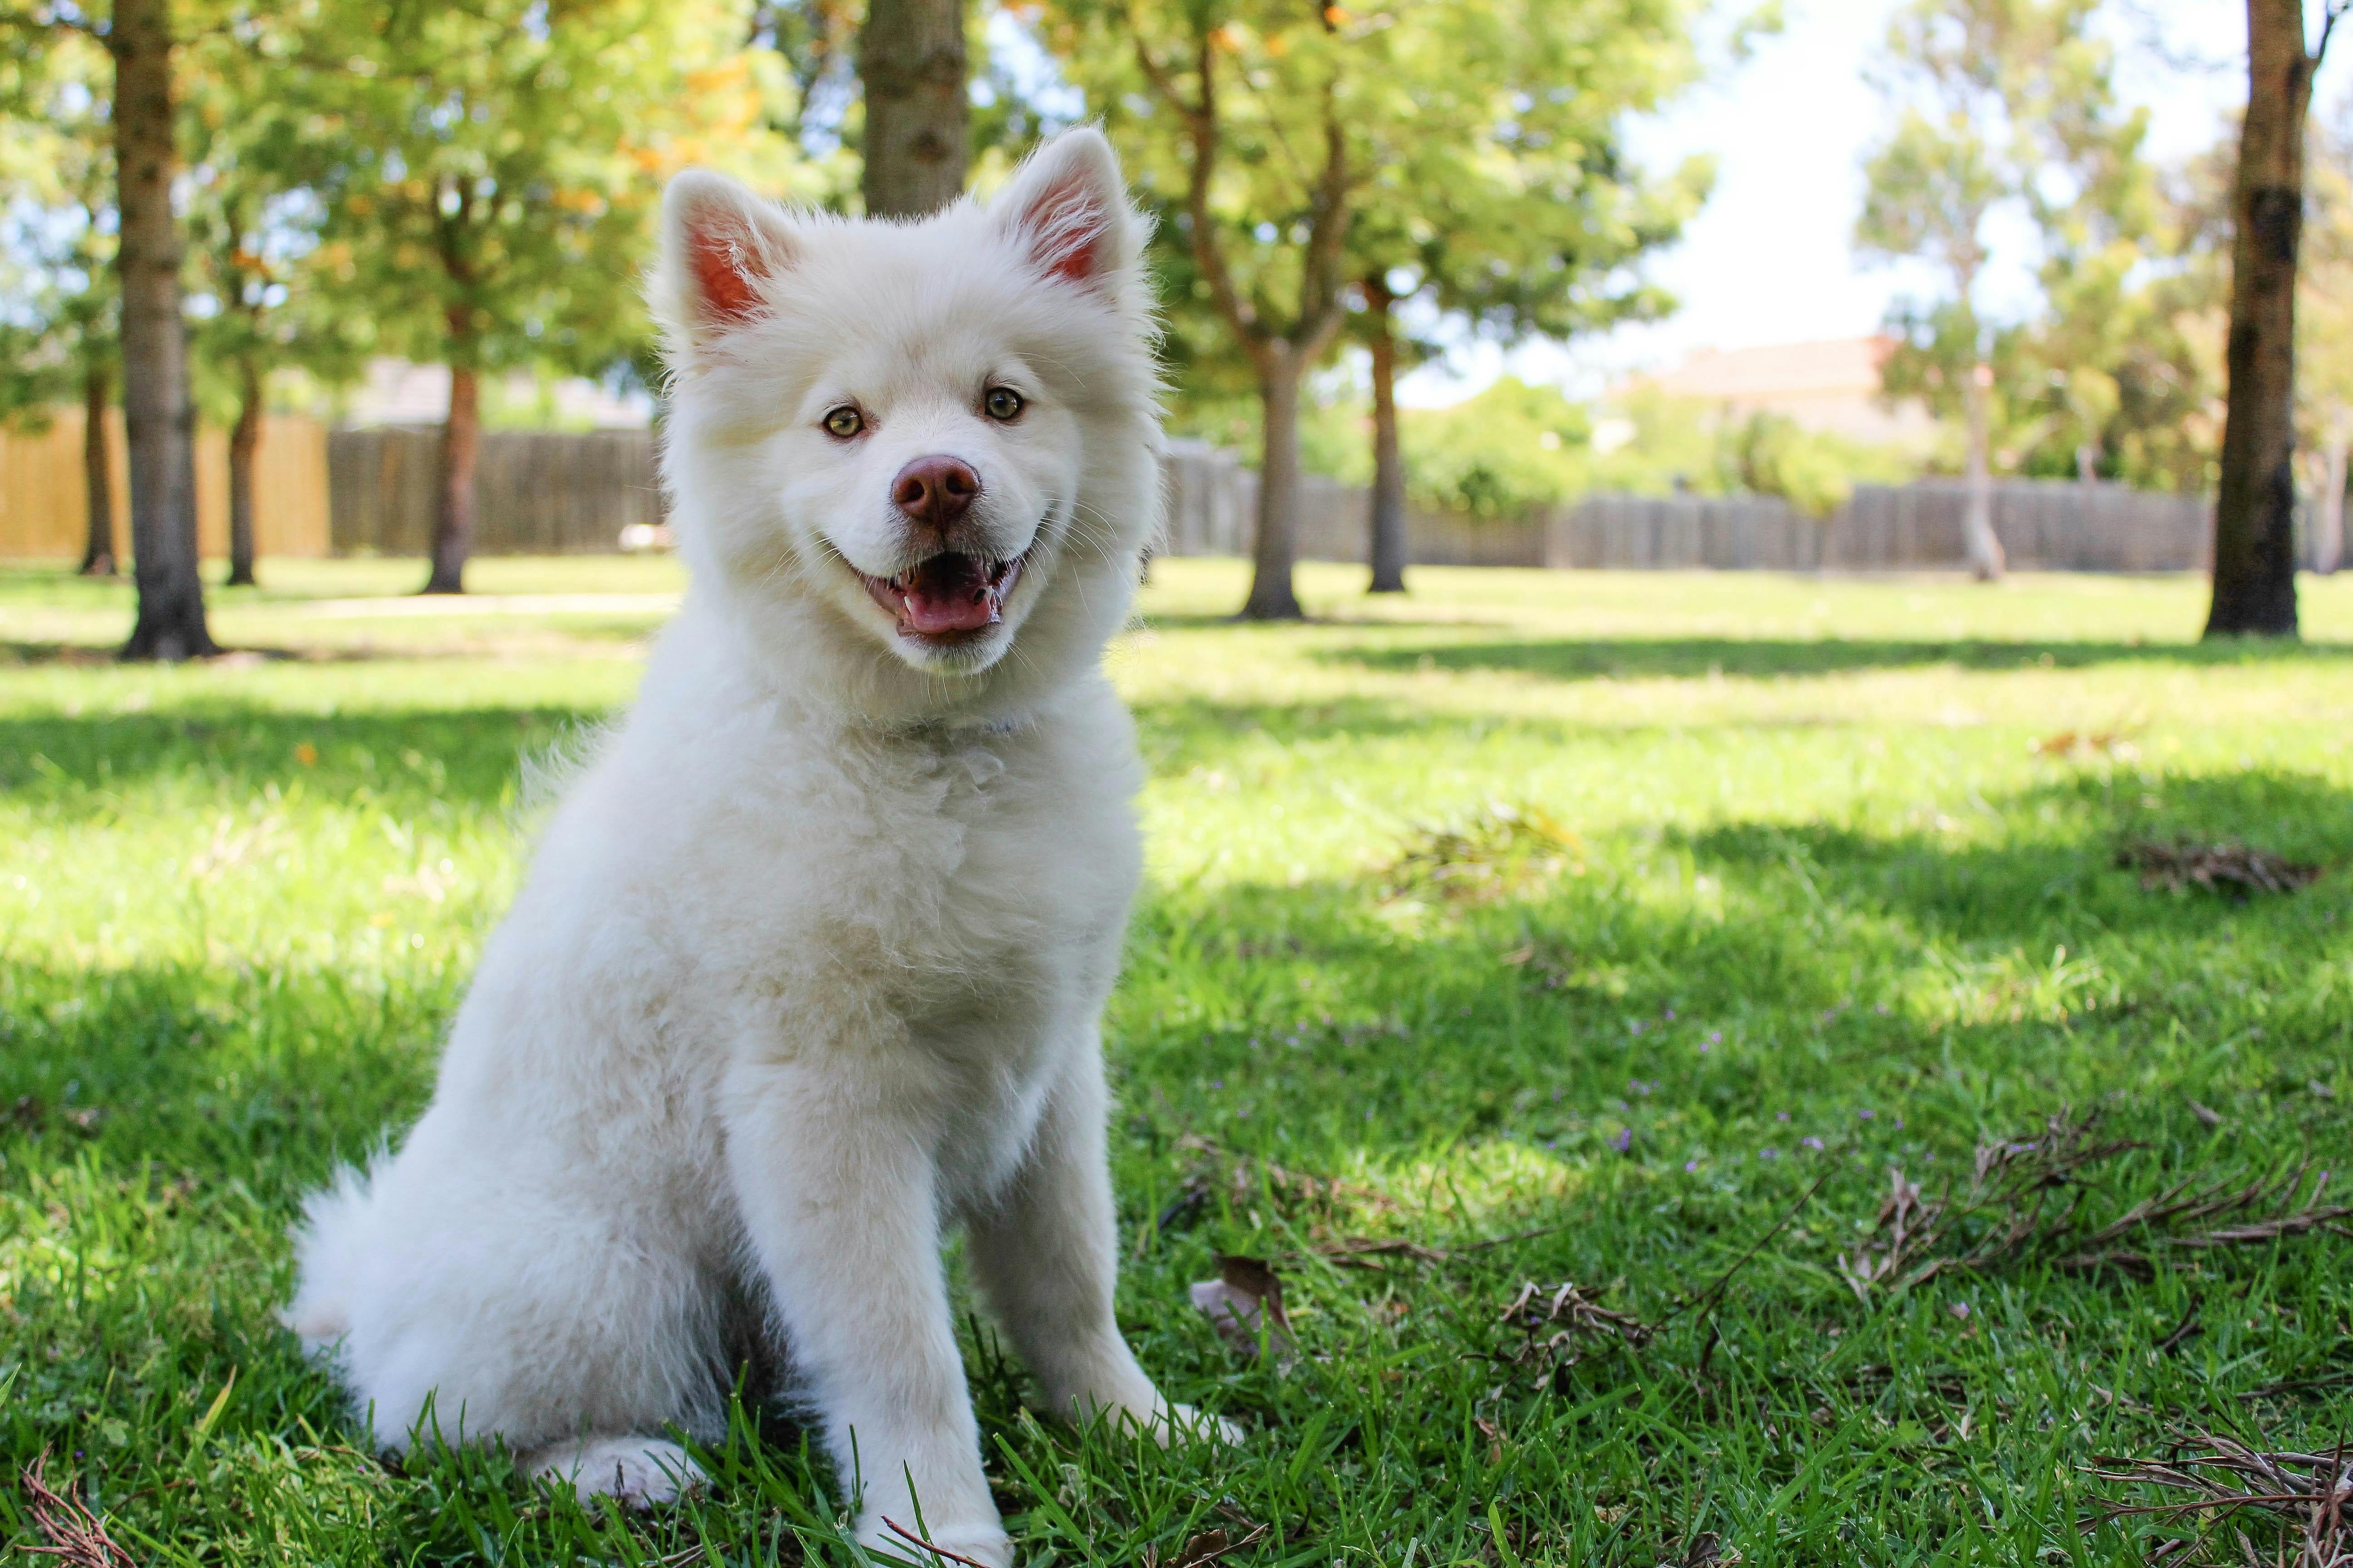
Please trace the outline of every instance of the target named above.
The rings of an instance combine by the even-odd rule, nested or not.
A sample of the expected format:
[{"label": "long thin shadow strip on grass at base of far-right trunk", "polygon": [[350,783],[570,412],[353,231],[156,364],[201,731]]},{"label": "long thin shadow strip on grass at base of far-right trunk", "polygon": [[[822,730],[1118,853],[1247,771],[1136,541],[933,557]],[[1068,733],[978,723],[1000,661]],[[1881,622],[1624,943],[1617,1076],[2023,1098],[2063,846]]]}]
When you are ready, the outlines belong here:
[{"label": "long thin shadow strip on grass at base of far-right trunk", "polygon": [[1308,658],[1365,670],[1518,672],[1546,679],[1842,675],[1958,665],[1962,670],[2080,670],[2104,663],[2353,663],[2353,644],[2271,642],[1908,642],[1838,637],[1598,637],[1433,642],[1421,646],[1308,649]]}]

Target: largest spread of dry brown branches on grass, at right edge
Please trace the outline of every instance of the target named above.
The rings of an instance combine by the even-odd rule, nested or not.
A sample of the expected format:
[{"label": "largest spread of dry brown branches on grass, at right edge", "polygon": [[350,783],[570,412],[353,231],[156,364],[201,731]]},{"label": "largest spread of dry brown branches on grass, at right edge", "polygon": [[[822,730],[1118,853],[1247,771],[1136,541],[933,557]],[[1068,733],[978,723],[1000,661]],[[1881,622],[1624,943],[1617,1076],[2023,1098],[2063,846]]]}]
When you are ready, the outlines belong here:
[{"label": "largest spread of dry brown branches on grass, at right edge", "polygon": [[[2045,1119],[2040,1135],[1981,1143],[1967,1187],[1937,1197],[1889,1168],[1873,1234],[1852,1258],[1838,1255],[1840,1279],[1864,1302],[1873,1291],[1911,1288],[1937,1274],[2038,1262],[2073,1274],[2118,1269],[2148,1279],[2165,1248],[2245,1246],[2313,1229],[2353,1234],[2344,1225],[2353,1206],[2322,1204],[2329,1173],[2313,1178],[2308,1164],[2242,1185],[2184,1178],[2097,1225],[2085,1218],[2087,1171],[2141,1145],[2092,1133],[2089,1119],[2061,1112]],[[2242,1218],[2212,1225],[2233,1215]]]}]

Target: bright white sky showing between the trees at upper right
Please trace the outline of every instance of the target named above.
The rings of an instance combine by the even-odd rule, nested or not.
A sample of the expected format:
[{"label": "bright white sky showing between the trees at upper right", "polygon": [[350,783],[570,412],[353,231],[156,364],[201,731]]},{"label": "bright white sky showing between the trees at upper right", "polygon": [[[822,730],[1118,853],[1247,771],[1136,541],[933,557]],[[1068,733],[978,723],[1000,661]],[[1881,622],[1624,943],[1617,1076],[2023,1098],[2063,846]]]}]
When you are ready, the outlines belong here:
[{"label": "bright white sky showing between the trees at upper right", "polygon": [[[1640,369],[1666,369],[1697,348],[1751,348],[1873,331],[1892,299],[1922,277],[1859,259],[1864,153],[1887,108],[1864,66],[1887,35],[1897,0],[1788,0],[1786,26],[1744,63],[1722,61],[1711,85],[1635,127],[1649,167],[1715,155],[1715,193],[1682,242],[1649,275],[1682,308],[1666,322],[1621,327],[1572,346],[1501,353],[1473,343],[1398,383],[1417,407],[1457,402],[1511,369],[1527,381],[1595,395]],[[2308,5],[2306,9],[2315,9]],[[2120,0],[2108,26],[2125,66],[2118,89],[2151,108],[2148,150],[2162,162],[2214,143],[2245,103],[2245,9],[2231,0]],[[2315,103],[2344,96],[2353,49],[2332,47]],[[1988,226],[1991,228],[1991,226]],[[2026,301],[2033,252],[2024,223],[1991,233],[1995,270],[1986,303]]]}]

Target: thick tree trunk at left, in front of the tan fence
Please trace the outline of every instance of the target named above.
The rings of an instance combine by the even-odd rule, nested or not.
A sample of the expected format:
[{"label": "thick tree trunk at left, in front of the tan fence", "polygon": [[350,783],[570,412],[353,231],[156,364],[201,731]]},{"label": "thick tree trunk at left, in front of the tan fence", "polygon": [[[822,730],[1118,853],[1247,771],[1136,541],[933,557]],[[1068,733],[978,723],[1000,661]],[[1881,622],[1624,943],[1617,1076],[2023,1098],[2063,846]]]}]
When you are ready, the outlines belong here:
[{"label": "thick tree trunk at left, in front of the tan fence", "polygon": [[172,24],[167,0],[115,0],[115,275],[122,287],[122,425],[132,468],[139,618],[122,658],[216,654],[195,564],[195,400],[172,216]]}]

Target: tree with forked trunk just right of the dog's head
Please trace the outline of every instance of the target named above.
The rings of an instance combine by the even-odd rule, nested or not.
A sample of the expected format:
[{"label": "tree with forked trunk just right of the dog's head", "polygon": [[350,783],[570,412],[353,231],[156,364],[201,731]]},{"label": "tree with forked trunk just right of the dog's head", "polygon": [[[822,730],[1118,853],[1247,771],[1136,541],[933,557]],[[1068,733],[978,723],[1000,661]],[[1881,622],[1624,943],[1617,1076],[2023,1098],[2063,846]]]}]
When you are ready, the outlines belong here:
[{"label": "tree with forked trunk just right of the dog's head", "polygon": [[1054,0],[1047,35],[1146,202],[1172,212],[1186,282],[1249,364],[1259,527],[1242,616],[1297,621],[1299,390],[1346,320],[1362,129],[1386,16],[1278,0]]}]

